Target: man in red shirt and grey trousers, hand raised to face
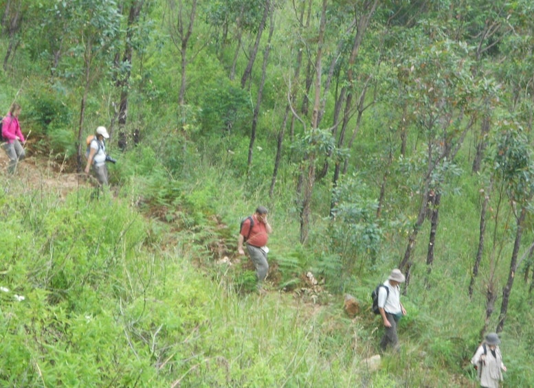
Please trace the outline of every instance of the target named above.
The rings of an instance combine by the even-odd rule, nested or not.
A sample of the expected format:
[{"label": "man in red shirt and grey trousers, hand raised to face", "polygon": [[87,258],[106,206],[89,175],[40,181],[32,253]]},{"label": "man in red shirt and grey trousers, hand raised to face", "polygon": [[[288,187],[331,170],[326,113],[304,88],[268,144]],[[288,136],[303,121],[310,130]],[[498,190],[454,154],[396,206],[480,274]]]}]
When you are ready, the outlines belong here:
[{"label": "man in red shirt and grey trousers, hand raised to face", "polygon": [[243,242],[247,242],[247,251],[256,268],[258,288],[261,288],[261,283],[267,277],[267,271],[269,271],[267,241],[269,240],[269,233],[273,229],[267,221],[267,213],[267,208],[258,206],[256,213],[247,217],[241,223],[241,231],[237,240],[237,251],[240,255],[245,255]]}]

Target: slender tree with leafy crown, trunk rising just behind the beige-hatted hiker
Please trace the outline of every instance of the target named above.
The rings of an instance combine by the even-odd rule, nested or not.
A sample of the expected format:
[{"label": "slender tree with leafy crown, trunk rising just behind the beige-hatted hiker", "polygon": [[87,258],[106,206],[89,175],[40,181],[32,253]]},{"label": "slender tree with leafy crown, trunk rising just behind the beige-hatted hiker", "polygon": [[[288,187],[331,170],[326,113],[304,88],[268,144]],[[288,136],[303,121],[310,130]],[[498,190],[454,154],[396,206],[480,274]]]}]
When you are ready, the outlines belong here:
[{"label": "slender tree with leafy crown, trunk rising just behind the beige-hatted hiker", "polygon": [[[422,42],[411,44],[421,47]],[[454,168],[452,161],[476,118],[476,83],[462,52],[462,46],[452,41],[436,41],[423,52],[408,58],[401,69],[410,80],[406,86],[411,89],[412,109],[418,112],[419,128],[426,139],[419,212],[408,234],[408,244],[400,263],[401,269],[406,272],[407,286],[410,283],[412,251],[425,221],[430,190],[441,190],[443,179],[447,171]],[[436,78],[436,73],[440,73],[441,77]],[[467,114],[469,116],[466,117]]]}]

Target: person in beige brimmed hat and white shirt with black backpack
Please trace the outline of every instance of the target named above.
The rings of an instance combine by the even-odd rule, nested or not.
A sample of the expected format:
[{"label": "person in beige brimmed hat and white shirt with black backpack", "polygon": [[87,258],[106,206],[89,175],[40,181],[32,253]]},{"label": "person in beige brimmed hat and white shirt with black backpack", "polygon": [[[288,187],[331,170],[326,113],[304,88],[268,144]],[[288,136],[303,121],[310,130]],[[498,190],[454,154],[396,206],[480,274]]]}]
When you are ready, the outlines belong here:
[{"label": "person in beige brimmed hat and white shirt with black backpack", "polygon": [[386,350],[388,346],[396,349],[399,342],[397,323],[403,315],[406,315],[406,310],[401,304],[401,289],[399,287],[399,284],[404,283],[404,281],[405,277],[401,270],[394,269],[386,282],[383,283],[385,287],[379,288],[378,309],[385,328],[380,341],[382,351]]}]

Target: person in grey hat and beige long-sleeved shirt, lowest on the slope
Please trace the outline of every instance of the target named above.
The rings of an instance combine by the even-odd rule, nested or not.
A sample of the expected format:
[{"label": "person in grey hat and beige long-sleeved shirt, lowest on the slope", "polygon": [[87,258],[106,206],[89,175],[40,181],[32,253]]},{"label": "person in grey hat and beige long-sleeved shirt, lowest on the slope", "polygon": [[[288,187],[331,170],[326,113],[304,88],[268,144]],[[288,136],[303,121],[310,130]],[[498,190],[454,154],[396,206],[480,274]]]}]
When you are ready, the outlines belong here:
[{"label": "person in grey hat and beige long-sleeved shirt, lowest on the slope", "polygon": [[499,384],[503,380],[502,372],[507,371],[507,367],[502,363],[499,344],[500,339],[497,333],[486,334],[484,341],[471,359],[471,363],[477,368],[480,387],[499,388]]}]

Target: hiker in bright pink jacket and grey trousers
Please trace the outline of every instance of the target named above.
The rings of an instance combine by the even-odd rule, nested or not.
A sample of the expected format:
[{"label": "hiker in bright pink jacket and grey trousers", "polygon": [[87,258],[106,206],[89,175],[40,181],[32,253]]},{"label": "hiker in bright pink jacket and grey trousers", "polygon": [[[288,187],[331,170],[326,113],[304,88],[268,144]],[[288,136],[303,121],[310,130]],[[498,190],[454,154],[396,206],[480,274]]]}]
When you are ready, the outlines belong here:
[{"label": "hiker in bright pink jacket and grey trousers", "polygon": [[23,148],[25,139],[21,132],[21,125],[19,124],[20,113],[21,106],[14,102],[8,115],[2,119],[2,137],[5,141],[3,149],[10,159],[8,171],[11,174],[15,172],[16,165],[19,161],[26,156],[26,152]]}]

